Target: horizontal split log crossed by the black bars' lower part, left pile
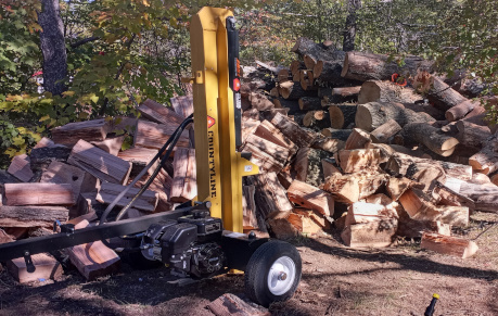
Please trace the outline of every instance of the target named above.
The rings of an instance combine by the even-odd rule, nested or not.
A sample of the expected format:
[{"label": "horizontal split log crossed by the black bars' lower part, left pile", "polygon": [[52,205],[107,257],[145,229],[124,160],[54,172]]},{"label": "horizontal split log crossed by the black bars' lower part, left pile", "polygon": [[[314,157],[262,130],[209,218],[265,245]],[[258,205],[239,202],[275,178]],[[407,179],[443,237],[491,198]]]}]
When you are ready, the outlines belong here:
[{"label": "horizontal split log crossed by the black bars' lower part, left pile", "polygon": [[[125,190],[126,187],[111,182],[103,182],[97,194],[95,200],[100,203],[111,204],[114,199]],[[116,205],[126,206],[129,201],[139,192],[139,188],[130,188],[128,192],[120,199]],[[132,207],[145,212],[154,212],[157,205],[157,194],[151,190],[145,190],[143,194],[137,199],[131,205]]]}]

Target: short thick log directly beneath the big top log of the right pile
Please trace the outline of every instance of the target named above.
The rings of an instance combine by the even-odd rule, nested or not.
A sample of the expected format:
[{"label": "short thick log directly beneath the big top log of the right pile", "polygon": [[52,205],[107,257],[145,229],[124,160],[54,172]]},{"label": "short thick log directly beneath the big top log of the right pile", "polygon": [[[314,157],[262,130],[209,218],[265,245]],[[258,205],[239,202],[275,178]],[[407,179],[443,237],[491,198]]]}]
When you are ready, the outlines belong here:
[{"label": "short thick log directly beneath the big top log of the right pile", "polygon": [[368,102],[407,102],[422,101],[412,88],[400,87],[391,80],[368,80],[361,85],[358,103]]}]

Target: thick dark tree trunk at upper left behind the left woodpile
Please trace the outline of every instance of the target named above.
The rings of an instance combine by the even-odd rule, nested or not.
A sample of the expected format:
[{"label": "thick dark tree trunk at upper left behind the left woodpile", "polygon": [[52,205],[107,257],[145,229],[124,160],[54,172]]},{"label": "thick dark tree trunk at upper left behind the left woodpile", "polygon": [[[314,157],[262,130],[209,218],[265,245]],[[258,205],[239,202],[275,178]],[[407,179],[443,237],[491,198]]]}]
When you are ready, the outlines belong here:
[{"label": "thick dark tree trunk at upper left behind the left woodpile", "polygon": [[40,49],[43,54],[43,89],[53,96],[66,90],[67,54],[64,42],[59,0],[41,0],[41,12],[38,13]]}]

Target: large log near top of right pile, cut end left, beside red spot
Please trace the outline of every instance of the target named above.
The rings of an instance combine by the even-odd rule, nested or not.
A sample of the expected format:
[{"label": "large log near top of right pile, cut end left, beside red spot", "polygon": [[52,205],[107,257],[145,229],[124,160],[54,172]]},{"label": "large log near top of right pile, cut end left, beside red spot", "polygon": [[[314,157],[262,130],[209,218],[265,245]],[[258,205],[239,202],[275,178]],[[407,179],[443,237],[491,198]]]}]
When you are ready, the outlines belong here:
[{"label": "large log near top of right pile, cut end left, beside red spot", "polygon": [[[403,60],[403,66],[398,61]],[[419,69],[432,72],[434,62],[419,56],[408,55],[392,59],[390,55],[365,52],[347,52],[341,75],[347,79],[360,81],[390,80],[393,74],[408,78],[414,76]]]}]

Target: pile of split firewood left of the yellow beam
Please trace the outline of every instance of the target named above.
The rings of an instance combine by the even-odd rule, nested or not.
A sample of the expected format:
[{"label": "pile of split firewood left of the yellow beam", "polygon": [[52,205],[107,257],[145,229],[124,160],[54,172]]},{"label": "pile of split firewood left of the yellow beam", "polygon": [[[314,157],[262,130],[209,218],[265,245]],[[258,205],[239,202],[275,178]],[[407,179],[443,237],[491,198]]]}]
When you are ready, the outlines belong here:
[{"label": "pile of split firewood left of the yellow beam", "polygon": [[[55,220],[74,224],[76,229],[95,225],[106,206],[193,111],[192,97],[174,98],[171,104],[173,109],[146,100],[138,108],[140,118],[102,118],[54,128],[52,139],[43,138],[29,155],[14,157],[7,173],[0,173],[0,243],[53,233]],[[132,143],[123,150],[127,148],[123,146],[125,136]],[[167,212],[196,195],[192,143],[186,130],[166,168],[161,169],[126,218]],[[130,201],[157,165],[137,181],[137,188],[127,192],[114,212]],[[119,269],[119,256],[101,241],[66,249],[62,255],[89,280]],[[34,255],[33,263],[37,267],[34,274],[26,271],[24,258],[13,260],[7,267],[21,282],[62,274],[60,263],[50,254]]]}]

